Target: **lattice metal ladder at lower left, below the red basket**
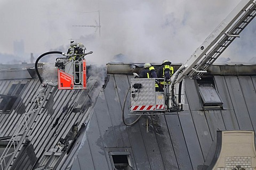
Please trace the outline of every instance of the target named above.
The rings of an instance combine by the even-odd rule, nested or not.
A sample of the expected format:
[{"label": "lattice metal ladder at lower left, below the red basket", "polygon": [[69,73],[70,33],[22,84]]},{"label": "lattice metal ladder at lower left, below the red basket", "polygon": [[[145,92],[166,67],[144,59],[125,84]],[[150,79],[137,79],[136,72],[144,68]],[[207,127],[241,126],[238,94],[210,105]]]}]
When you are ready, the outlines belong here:
[{"label": "lattice metal ladder at lower left, below the red basket", "polygon": [[[36,118],[41,114],[42,108],[47,103],[47,100],[50,98],[53,90],[54,87],[49,88],[49,84],[43,82],[36,92],[36,95],[32,100],[30,100],[28,112],[24,114],[22,121],[15,129],[9,143],[0,157],[0,165],[2,169],[10,169],[13,165],[20,150],[25,145],[33,125],[36,123]],[[9,153],[11,148],[14,148],[14,151]],[[8,157],[10,157],[10,159],[6,163],[5,159],[8,159]]]}]

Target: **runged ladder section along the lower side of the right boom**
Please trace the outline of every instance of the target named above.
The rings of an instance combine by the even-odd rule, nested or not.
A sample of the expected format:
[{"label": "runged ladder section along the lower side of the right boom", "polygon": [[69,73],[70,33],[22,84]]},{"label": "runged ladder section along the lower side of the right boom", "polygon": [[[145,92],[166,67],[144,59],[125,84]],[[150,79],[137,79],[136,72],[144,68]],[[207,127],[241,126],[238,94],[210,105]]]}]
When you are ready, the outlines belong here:
[{"label": "runged ladder section along the lower side of the right boom", "polygon": [[219,41],[211,48],[208,54],[205,54],[203,60],[195,66],[195,70],[189,73],[190,78],[198,79],[204,72],[197,71],[206,71],[215,60],[222,54],[222,52],[233,42],[233,40],[239,37],[244,28],[253,20],[256,15],[256,4],[255,1],[249,6],[249,8],[244,11],[236,23],[229,29],[227,33],[224,33]]}]

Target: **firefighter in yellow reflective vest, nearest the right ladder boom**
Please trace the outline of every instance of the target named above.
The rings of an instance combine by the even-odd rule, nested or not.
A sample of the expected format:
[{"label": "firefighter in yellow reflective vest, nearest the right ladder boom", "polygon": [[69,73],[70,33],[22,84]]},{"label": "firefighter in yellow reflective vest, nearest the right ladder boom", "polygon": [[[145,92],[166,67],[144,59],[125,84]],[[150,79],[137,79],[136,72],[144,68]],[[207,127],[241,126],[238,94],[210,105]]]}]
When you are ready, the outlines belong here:
[{"label": "firefighter in yellow reflective vest, nearest the right ladder boom", "polygon": [[173,67],[171,66],[172,62],[169,60],[164,60],[162,65],[157,70],[157,77],[164,78],[164,81],[160,81],[159,83],[159,90],[163,91],[164,84],[170,84],[170,80],[172,74],[174,73]]}]

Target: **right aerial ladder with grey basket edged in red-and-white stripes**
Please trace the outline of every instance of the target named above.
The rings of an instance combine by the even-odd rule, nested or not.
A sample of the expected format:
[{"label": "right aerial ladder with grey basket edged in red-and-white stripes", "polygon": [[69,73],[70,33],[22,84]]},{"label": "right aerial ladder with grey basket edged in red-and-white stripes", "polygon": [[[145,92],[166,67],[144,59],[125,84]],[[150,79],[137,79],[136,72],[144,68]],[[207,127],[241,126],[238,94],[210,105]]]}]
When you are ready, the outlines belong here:
[{"label": "right aerial ladder with grey basket edged in red-and-white stripes", "polygon": [[154,84],[159,81],[157,79],[131,79],[130,111],[142,115],[145,113],[168,114],[187,110],[182,80],[186,77],[201,79],[213,62],[254,19],[255,2],[255,0],[242,0],[190,58],[175,71],[171,77],[171,83],[166,83],[164,92],[155,90]]}]

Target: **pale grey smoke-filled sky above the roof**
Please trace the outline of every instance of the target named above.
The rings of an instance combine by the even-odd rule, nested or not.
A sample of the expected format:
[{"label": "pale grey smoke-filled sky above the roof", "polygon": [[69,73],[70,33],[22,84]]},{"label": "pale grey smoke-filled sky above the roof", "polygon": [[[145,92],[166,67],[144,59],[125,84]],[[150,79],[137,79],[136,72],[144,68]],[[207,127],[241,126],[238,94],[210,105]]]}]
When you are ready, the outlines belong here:
[{"label": "pale grey smoke-filled sky above the roof", "polygon": [[[52,50],[67,52],[70,39],[83,43],[86,60],[183,63],[240,0],[1,0],[0,53],[13,54],[23,40],[27,58]],[[99,21],[100,16],[100,21]],[[99,27],[76,27],[87,25]],[[100,32],[99,32],[100,30]],[[256,57],[256,19],[220,58],[247,62]],[[24,60],[27,60],[26,56]],[[5,61],[1,61],[5,63]]]}]

